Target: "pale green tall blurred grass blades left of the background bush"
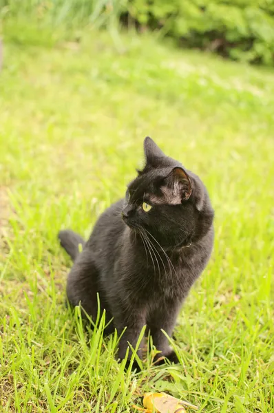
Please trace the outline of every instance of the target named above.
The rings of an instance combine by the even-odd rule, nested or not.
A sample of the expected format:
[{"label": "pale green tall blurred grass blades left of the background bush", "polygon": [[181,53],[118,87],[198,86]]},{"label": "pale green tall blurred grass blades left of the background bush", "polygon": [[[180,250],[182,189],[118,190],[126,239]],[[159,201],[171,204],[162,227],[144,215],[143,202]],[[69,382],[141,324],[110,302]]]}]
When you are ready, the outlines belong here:
[{"label": "pale green tall blurred grass blades left of the background bush", "polygon": [[53,45],[81,37],[87,25],[107,28],[117,38],[122,8],[119,0],[0,0],[0,21],[4,36],[15,43]]}]

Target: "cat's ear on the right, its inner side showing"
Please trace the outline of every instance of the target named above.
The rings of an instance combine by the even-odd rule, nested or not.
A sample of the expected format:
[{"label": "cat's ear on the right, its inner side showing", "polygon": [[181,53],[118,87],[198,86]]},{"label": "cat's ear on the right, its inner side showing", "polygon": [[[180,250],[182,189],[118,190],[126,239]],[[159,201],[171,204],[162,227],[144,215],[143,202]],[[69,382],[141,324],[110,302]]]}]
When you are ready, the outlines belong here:
[{"label": "cat's ear on the right, its inner side showing", "polygon": [[189,199],[192,187],[189,176],[184,169],[181,167],[173,168],[169,176],[165,178],[165,182],[165,192],[168,193],[171,204],[180,204]]}]

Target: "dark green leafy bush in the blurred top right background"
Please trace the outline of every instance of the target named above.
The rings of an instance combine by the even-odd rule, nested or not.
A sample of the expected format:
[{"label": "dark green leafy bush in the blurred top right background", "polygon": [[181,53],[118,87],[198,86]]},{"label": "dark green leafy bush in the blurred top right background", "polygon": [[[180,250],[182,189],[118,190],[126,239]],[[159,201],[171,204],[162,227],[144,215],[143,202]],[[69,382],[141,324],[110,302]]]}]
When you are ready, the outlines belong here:
[{"label": "dark green leafy bush in the blurred top right background", "polygon": [[126,13],[185,47],[274,64],[273,0],[129,0]]}]

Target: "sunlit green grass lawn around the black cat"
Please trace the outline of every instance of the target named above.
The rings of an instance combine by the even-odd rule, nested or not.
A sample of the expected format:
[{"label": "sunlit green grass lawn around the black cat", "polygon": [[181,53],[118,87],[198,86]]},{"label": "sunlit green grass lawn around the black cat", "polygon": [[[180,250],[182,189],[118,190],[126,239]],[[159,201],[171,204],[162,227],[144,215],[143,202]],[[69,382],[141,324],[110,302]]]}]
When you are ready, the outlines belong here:
[{"label": "sunlit green grass lawn around the black cat", "polygon": [[[42,34],[41,34],[42,36]],[[200,412],[274,411],[274,74],[151,36],[55,48],[6,44],[0,78],[0,410],[134,412],[167,391]],[[70,260],[125,193],[150,135],[198,173],[215,250],[176,328],[180,366],[114,359],[117,337],[83,332],[64,307]]]}]

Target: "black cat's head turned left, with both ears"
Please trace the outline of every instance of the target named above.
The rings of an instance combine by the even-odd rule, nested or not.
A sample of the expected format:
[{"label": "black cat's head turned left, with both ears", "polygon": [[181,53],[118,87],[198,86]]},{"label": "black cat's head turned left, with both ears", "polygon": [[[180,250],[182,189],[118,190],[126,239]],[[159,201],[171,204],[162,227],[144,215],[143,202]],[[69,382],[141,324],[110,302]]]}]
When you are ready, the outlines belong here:
[{"label": "black cat's head turned left, with both ears", "polygon": [[129,185],[123,220],[150,234],[164,248],[186,246],[203,237],[213,209],[202,181],[145,138],[145,167]]}]

